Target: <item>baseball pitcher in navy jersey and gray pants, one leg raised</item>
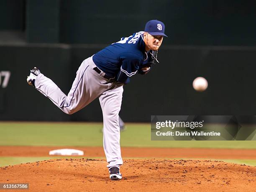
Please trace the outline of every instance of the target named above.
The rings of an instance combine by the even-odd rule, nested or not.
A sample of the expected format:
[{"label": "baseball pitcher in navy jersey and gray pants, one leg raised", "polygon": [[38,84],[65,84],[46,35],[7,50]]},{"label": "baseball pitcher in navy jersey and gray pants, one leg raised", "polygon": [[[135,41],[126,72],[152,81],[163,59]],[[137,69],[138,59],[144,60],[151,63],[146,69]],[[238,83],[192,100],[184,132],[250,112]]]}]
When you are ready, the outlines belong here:
[{"label": "baseball pitcher in navy jersey and gray pants, one leg raised", "polygon": [[[120,128],[118,113],[121,108],[123,85],[130,77],[146,74],[159,63],[157,51],[164,34],[164,23],[150,20],[145,30],[121,38],[120,41],[85,59],[77,70],[68,95],[34,67],[27,82],[48,97],[64,113],[73,114],[99,98],[103,113],[103,146],[108,161],[110,179],[122,179],[120,165]],[[167,36],[166,36],[167,37]]]}]

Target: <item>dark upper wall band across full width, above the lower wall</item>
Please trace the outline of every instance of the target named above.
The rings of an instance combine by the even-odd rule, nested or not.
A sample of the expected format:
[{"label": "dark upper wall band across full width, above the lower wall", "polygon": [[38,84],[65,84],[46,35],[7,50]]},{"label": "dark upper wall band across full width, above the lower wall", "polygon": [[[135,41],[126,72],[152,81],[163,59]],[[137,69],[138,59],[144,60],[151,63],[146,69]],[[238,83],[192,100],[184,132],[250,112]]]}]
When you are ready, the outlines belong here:
[{"label": "dark upper wall band across full width, above the lower wall", "polygon": [[110,44],[158,19],[171,45],[256,45],[255,0],[0,0],[0,31],[30,43]]}]

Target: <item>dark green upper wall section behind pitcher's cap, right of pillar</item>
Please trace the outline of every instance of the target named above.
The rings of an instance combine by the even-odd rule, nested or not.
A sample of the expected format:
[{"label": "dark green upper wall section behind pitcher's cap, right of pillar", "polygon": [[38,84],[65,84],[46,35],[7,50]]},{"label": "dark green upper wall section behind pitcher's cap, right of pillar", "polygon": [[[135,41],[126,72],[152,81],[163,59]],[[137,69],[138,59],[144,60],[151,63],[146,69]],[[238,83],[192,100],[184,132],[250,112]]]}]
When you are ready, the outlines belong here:
[{"label": "dark green upper wall section behind pitcher's cap, right of pillar", "polygon": [[166,25],[166,44],[256,45],[255,0],[58,2],[61,43],[110,44],[158,19]]}]

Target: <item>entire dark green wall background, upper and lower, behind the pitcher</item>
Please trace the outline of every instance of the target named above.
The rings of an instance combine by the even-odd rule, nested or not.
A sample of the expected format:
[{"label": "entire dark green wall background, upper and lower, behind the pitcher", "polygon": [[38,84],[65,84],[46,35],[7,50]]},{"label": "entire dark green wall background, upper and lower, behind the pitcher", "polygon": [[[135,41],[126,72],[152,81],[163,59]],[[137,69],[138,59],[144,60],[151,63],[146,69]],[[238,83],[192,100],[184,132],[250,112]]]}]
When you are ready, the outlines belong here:
[{"label": "entire dark green wall background, upper and lower, behind the pitcher", "polygon": [[[255,115],[255,13],[255,0],[1,0],[0,35],[18,31],[26,39],[15,42],[23,46],[14,46],[10,37],[8,46],[0,42],[0,120],[101,121],[98,101],[74,115],[61,112],[26,84],[29,69],[39,67],[68,93],[79,64],[102,49],[100,44],[141,31],[151,19],[162,20],[169,37],[159,52],[161,64],[125,86],[125,121]],[[206,92],[193,90],[198,76],[208,80]]]}]

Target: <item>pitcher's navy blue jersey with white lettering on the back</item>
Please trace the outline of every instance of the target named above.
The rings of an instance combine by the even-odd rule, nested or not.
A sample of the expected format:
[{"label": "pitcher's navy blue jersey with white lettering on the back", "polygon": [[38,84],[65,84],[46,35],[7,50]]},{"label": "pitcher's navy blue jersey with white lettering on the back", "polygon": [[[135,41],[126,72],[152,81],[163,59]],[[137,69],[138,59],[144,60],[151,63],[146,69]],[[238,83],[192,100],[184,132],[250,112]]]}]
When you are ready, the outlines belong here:
[{"label": "pitcher's navy blue jersey with white lettering on the back", "polygon": [[120,41],[105,47],[93,57],[96,66],[109,77],[127,84],[129,77],[148,63],[148,52],[145,51],[144,31],[133,33],[132,36],[121,38]]}]

